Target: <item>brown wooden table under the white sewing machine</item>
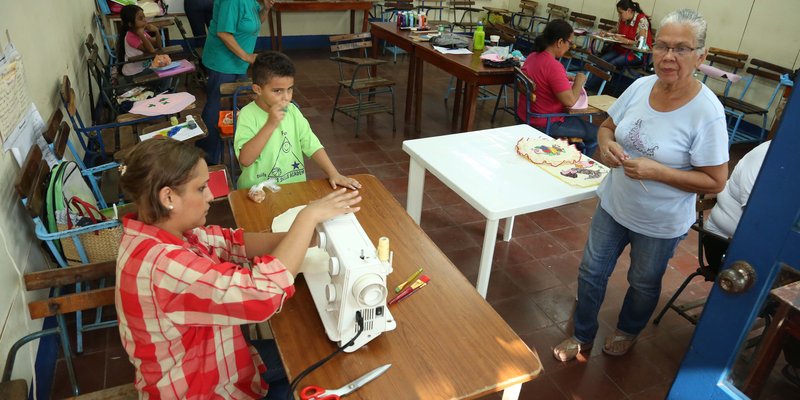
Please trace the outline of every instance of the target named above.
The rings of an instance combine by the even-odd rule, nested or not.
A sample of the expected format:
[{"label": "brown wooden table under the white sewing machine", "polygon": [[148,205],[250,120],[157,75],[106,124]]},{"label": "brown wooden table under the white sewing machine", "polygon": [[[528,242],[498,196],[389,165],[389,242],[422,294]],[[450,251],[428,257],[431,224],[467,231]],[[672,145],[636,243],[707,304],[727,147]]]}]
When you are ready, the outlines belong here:
[{"label": "brown wooden table under the white sewing machine", "polygon": [[[486,303],[450,260],[403,211],[372,175],[357,175],[364,196],[356,214],[375,242],[387,236],[394,251],[394,287],[417,268],[431,282],[408,300],[392,306],[397,328],[384,332],[354,353],[340,354],[301,382],[337,388],[380,365],[384,375],[348,399],[472,399],[506,390],[515,398],[521,384],[541,373],[536,354]],[[248,231],[269,231],[273,217],[290,207],[330,193],[327,180],[282,185],[257,204],[246,190],[232,192],[237,224]],[[335,349],[328,340],[305,279],[296,294],[270,319],[289,378]]]}]

